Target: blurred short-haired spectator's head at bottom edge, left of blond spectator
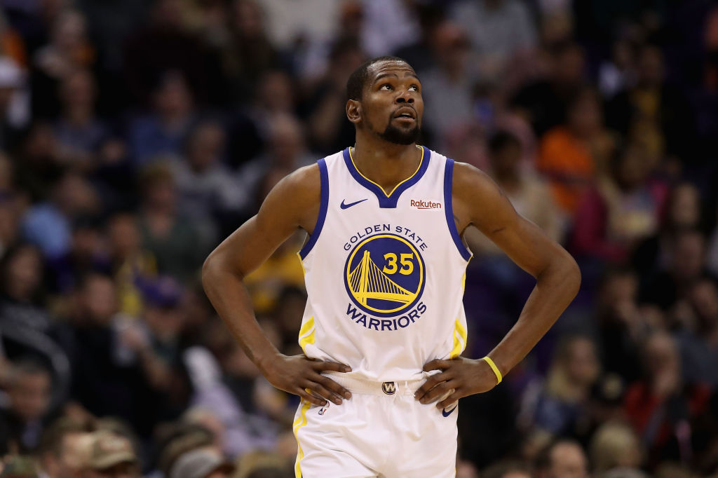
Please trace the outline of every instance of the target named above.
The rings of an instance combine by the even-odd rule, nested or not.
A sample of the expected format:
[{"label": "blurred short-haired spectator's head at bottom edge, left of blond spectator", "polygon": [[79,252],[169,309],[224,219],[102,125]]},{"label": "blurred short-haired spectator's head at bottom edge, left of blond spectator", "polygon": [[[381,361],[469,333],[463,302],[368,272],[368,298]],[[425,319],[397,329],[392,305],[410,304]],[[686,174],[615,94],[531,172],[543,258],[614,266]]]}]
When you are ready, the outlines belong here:
[{"label": "blurred short-haired spectator's head at bottom edge, left of blond spectator", "polygon": [[547,445],[536,457],[536,478],[588,478],[588,463],[581,446],[559,439]]}]

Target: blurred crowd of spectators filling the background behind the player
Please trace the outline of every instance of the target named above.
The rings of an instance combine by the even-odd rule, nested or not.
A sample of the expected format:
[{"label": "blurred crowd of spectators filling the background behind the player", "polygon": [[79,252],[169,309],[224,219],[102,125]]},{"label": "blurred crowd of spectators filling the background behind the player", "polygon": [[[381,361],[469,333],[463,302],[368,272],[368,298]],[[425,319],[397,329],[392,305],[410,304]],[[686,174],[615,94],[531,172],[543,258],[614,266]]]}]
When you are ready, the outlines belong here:
[{"label": "blurred crowd of spectators filling the background behind the player", "polygon": [[[408,60],[422,144],[484,170],[582,268],[462,399],[459,478],[718,476],[718,3],[4,0],[0,477],[294,476],[297,397],[216,317],[210,250],[353,144],[345,83]],[[297,234],[246,282],[286,354]],[[533,287],[468,234],[469,349]]]}]

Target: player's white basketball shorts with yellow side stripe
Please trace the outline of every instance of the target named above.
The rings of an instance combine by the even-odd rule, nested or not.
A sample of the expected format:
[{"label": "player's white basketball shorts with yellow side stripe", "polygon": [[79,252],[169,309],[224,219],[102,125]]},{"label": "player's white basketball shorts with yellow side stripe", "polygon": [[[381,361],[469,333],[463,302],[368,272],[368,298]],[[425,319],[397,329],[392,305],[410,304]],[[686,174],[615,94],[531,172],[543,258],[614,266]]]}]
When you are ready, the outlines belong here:
[{"label": "player's white basketball shorts with yellow side stripe", "polygon": [[302,400],[294,416],[297,478],[455,476],[458,404],[439,410],[419,403],[414,392],[424,380],[331,378],[352,398],[325,406]]}]

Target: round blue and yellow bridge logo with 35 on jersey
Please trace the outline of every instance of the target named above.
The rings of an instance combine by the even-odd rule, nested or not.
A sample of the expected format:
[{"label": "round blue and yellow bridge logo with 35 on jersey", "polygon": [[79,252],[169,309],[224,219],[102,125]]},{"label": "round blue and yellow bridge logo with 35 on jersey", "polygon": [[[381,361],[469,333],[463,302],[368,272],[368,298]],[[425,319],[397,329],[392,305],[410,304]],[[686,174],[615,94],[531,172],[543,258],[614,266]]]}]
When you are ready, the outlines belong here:
[{"label": "round blue and yellow bridge logo with 35 on jersey", "polygon": [[376,317],[404,314],[421,298],[425,282],[419,250],[398,235],[365,238],[347,258],[347,292],[356,306]]}]

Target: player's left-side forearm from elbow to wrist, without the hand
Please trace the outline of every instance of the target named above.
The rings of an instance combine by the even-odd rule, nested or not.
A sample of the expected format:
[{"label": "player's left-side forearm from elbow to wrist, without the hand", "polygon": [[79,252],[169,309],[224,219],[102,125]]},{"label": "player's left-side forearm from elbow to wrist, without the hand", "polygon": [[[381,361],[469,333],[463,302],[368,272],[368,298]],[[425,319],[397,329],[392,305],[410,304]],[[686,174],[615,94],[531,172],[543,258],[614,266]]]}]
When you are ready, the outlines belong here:
[{"label": "player's left-side forearm from elbow to wrist, without the hand", "polygon": [[257,323],[242,277],[208,260],[202,268],[202,285],[242,350],[264,373],[266,364],[279,355],[279,350]]}]

